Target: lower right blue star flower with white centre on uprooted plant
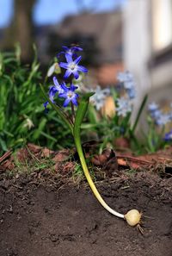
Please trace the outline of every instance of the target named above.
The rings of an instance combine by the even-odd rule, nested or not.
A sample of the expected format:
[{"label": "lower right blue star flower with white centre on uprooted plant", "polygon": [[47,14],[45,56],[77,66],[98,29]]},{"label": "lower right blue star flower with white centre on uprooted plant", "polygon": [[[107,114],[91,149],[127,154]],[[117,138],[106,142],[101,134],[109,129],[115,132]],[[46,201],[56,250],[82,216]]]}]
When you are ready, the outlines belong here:
[{"label": "lower right blue star flower with white centre on uprooted plant", "polygon": [[78,94],[75,92],[77,86],[71,84],[70,88],[68,88],[64,84],[62,84],[62,89],[64,90],[64,92],[60,93],[58,97],[65,98],[63,106],[66,107],[70,102],[77,106],[77,97],[79,97]]}]

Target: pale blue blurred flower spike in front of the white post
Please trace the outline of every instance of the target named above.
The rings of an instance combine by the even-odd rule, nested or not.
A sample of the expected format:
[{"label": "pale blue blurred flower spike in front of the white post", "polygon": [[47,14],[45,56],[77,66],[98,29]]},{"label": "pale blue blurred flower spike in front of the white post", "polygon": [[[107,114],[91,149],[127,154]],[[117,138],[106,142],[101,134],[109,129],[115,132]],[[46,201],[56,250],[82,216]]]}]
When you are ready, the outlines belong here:
[{"label": "pale blue blurred flower spike in front of the white post", "polygon": [[116,99],[116,112],[118,116],[126,117],[132,112],[132,99],[135,97],[135,81],[131,72],[119,72],[117,79],[120,82],[120,92],[123,93],[122,97]]}]

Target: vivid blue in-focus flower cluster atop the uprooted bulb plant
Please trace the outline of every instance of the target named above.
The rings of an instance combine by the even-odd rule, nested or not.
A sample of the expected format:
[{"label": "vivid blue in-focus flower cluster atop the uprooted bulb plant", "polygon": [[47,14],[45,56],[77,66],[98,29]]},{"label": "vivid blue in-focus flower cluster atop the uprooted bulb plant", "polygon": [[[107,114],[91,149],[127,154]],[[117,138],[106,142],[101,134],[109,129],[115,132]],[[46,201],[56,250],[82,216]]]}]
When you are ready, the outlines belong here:
[{"label": "vivid blue in-focus flower cluster atop the uprooted bulb plant", "polygon": [[[83,51],[81,47],[63,47],[63,50],[61,53],[58,53],[58,57],[63,54],[66,62],[59,62],[58,66],[63,68],[65,70],[64,72],[64,80],[59,83],[58,79],[54,76],[53,77],[53,85],[49,88],[49,98],[52,103],[54,102],[54,97],[56,94],[58,94],[58,97],[64,98],[64,104],[63,106],[66,107],[69,103],[72,103],[77,106],[77,98],[79,95],[77,94],[77,86],[74,84],[65,84],[65,80],[69,77],[72,78],[79,78],[79,72],[88,72],[88,70],[84,66],[80,66],[79,62],[81,61],[82,57],[77,56],[77,52]],[[57,64],[56,64],[57,66]],[[51,70],[51,73],[54,71],[54,66]],[[71,79],[72,81],[72,79]],[[44,103],[44,107],[47,111],[47,104],[48,102]]]}]

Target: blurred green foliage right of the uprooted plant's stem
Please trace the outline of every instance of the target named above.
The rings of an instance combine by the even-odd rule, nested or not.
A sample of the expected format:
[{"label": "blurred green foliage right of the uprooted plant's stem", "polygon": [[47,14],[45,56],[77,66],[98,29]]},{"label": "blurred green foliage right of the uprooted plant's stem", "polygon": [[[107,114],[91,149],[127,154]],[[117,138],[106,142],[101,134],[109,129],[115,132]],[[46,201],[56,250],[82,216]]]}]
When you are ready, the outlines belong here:
[{"label": "blurred green foliage right of the uprooted plant's stem", "polygon": [[[111,89],[111,93],[115,102],[119,95],[114,89]],[[82,125],[84,140],[99,141],[99,153],[106,147],[112,147],[114,150],[132,150],[132,153],[139,155],[155,153],[159,149],[171,145],[172,140],[164,140],[165,126],[157,127],[148,114],[145,120],[147,128],[142,129],[139,125],[139,132],[137,131],[140,117],[145,110],[147,98],[148,95],[145,95],[138,108],[138,114],[134,122],[131,122],[132,112],[129,112],[125,117],[118,116],[116,113],[112,116],[107,116],[103,115],[101,110],[97,111],[92,104],[89,104],[87,120]],[[108,105],[108,111],[111,110],[110,108],[110,105]]]}]

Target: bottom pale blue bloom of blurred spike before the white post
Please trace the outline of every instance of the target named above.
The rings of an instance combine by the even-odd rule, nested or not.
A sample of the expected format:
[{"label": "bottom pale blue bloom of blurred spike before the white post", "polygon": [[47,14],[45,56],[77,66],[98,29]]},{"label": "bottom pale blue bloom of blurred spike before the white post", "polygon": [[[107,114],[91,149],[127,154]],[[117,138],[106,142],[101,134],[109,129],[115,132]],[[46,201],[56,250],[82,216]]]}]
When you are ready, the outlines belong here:
[{"label": "bottom pale blue bloom of blurred spike before the white post", "polygon": [[118,116],[125,117],[127,113],[132,112],[131,103],[125,97],[117,98],[116,103],[117,103],[116,112]]}]

